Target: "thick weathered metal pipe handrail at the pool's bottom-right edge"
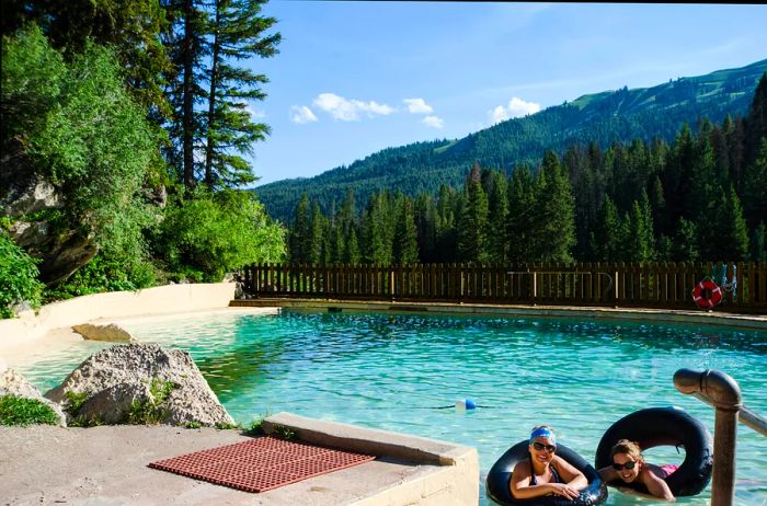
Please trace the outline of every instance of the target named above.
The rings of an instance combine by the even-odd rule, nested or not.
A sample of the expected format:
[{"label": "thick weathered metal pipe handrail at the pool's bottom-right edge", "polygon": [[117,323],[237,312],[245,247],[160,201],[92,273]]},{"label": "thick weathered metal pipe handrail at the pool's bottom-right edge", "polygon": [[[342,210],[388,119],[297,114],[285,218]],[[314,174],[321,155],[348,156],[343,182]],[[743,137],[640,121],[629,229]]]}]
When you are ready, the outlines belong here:
[{"label": "thick weathered metal pipe handrail at the pool's bottom-right edge", "polygon": [[731,506],[735,498],[737,422],[767,436],[767,421],[743,405],[737,381],[718,370],[679,369],[674,387],[716,409],[711,506]]}]

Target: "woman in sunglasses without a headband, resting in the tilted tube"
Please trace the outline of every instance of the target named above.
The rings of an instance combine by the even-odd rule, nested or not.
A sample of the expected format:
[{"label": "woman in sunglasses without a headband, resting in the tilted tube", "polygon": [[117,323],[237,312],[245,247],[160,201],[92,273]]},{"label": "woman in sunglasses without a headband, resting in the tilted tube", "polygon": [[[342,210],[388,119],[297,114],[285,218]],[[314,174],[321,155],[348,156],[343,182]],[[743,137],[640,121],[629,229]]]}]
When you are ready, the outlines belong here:
[{"label": "woman in sunglasses without a headband, resting in the tilted tube", "polygon": [[620,479],[628,484],[641,484],[653,497],[675,501],[665,479],[676,470],[676,465],[655,465],[644,461],[642,451],[633,441],[621,439],[610,450],[613,465],[602,468],[599,476],[605,483]]}]

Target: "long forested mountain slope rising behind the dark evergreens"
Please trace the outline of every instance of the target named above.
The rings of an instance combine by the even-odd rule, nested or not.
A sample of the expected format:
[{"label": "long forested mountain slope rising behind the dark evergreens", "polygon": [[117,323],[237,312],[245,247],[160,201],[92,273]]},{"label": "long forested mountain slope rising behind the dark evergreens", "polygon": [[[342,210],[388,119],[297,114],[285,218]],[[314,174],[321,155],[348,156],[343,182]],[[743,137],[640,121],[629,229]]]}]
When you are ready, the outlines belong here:
[{"label": "long forested mountain slope rising behind the dark evergreens", "polygon": [[653,88],[608,91],[510,119],[462,139],[387,148],[310,179],[271,183],[254,189],[270,215],[289,222],[306,193],[322,212],[334,212],[351,189],[357,203],[384,188],[409,196],[434,194],[442,184],[460,186],[474,162],[511,174],[522,163],[540,163],[547,150],[558,153],[577,143],[606,149],[615,141],[654,137],[671,142],[699,118],[714,123],[745,115],[767,59],[706,76],[669,80]]}]

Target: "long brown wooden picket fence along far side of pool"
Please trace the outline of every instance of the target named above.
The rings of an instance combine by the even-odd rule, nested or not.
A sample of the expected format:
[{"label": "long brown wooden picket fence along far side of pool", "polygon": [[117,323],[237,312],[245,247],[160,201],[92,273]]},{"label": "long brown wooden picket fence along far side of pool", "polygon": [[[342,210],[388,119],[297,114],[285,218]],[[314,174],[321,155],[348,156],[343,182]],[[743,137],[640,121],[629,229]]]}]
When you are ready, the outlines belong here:
[{"label": "long brown wooden picket fence along far side of pool", "polygon": [[695,309],[711,277],[717,309],[767,313],[767,264],[260,264],[244,268],[251,297]]}]

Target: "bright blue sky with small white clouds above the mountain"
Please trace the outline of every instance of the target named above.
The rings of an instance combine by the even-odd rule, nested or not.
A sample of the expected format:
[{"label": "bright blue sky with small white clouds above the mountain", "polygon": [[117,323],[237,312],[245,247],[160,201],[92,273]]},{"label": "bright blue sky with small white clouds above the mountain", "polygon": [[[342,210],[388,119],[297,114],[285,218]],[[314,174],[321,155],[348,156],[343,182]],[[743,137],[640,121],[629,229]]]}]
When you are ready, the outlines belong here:
[{"label": "bright blue sky with small white clouds above the mountain", "polygon": [[767,5],[272,0],[279,54],[248,65],[272,135],[257,185],[454,139],[623,85],[767,58]]}]

